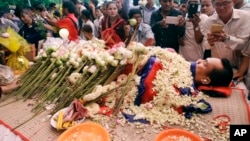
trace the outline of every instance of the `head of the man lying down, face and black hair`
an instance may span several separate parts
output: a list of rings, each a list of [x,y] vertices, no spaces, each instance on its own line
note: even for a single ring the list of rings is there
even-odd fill
[[[228,59],[207,58],[196,62],[196,85],[229,86],[233,78],[233,70]]]

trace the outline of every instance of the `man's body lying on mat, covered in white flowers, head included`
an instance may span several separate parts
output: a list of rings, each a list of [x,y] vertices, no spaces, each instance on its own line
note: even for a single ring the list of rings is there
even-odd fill
[[[49,38],[37,62],[21,76],[23,85],[15,94],[37,98],[34,110],[48,104],[54,104],[54,111],[69,106],[65,122],[115,117],[119,123],[185,126],[195,121],[187,119],[199,119],[199,113],[212,111],[207,95],[197,88],[228,86],[232,70],[227,68],[227,60],[190,63],[175,52],[141,43],[105,49],[102,40],[65,44]],[[29,77],[36,73],[40,78]],[[225,83],[214,83],[221,73]]]

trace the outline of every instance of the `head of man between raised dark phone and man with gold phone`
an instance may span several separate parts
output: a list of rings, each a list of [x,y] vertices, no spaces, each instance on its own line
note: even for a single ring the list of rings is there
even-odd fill
[[[212,0],[201,1],[201,13],[211,16],[214,14],[214,5]]]

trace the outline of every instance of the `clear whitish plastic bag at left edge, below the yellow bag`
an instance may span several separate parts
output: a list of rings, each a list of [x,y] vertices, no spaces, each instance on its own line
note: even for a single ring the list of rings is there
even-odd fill
[[[8,66],[0,65],[0,85],[8,85],[13,82],[15,75]]]

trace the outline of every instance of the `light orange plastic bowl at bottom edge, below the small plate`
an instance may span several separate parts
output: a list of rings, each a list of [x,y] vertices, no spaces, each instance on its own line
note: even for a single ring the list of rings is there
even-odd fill
[[[63,132],[57,141],[110,141],[108,131],[100,124],[85,122]]]

